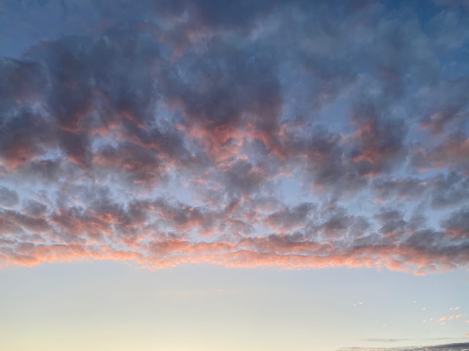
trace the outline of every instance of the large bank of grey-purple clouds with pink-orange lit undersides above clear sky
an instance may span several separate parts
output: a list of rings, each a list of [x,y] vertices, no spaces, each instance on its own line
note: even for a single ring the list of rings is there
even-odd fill
[[[93,6],[0,59],[1,266],[469,267],[463,7]]]

